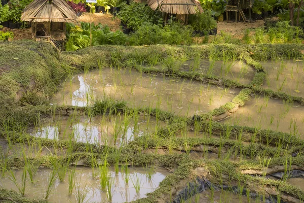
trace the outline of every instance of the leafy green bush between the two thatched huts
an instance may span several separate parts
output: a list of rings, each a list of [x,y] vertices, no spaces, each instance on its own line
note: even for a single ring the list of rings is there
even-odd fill
[[[118,12],[117,17],[128,28],[136,31],[143,23],[162,25],[163,19],[160,12],[153,11],[150,7],[141,3],[124,5]]]

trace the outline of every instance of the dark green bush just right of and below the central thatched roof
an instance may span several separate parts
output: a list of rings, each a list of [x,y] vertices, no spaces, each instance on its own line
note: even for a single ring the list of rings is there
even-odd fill
[[[189,24],[197,31],[210,31],[217,27],[216,21],[211,16],[209,10],[204,13],[197,13],[196,15],[189,15]]]

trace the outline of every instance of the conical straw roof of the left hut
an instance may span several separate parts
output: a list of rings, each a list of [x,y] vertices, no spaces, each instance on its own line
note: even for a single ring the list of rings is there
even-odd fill
[[[21,16],[21,20],[29,22],[77,22],[77,19],[65,0],[34,0]]]

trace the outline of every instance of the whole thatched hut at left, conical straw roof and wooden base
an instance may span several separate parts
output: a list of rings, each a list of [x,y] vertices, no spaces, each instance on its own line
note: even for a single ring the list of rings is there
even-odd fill
[[[65,0],[34,0],[23,11],[21,20],[31,22],[32,38],[64,41],[65,23],[78,22]]]

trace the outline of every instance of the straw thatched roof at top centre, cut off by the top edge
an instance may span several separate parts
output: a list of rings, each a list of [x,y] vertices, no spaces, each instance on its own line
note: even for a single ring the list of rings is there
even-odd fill
[[[196,14],[196,8],[203,12],[198,0],[148,0],[147,3],[153,10],[170,14]]]

